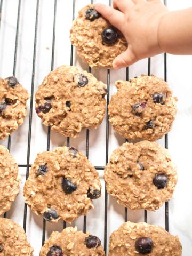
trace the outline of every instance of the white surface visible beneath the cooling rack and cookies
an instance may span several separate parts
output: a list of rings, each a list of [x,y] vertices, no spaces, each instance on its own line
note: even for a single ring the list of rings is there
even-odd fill
[[[43,78],[51,69],[51,53],[52,53],[52,29],[53,29],[53,0],[39,1],[39,23],[37,34],[37,54],[35,66],[35,91],[37,86],[41,84]],[[76,15],[81,7],[90,3],[88,0],[76,0]],[[108,4],[108,0],[95,1]],[[190,0],[168,0],[170,10],[179,10],[191,6]],[[66,64],[70,64],[70,41],[69,29],[72,20],[72,0],[58,0],[57,21],[56,21],[56,37],[55,37],[55,60],[54,68]],[[4,0],[2,10],[2,22],[0,29],[0,77],[12,75],[14,44],[15,44],[15,26],[17,23],[18,0]],[[30,92],[31,73],[33,65],[33,47],[34,47],[34,30],[35,30],[35,0],[21,1],[21,16],[19,27],[18,41],[18,58],[16,76],[20,83]],[[179,22],[179,21],[178,21]],[[154,57],[151,60],[151,73],[164,78],[164,62],[163,55]],[[168,81],[170,87],[174,91],[174,95],[179,98],[178,115],[174,122],[173,129],[169,134],[169,150],[172,158],[178,166],[179,181],[172,200],[169,203],[169,228],[174,235],[179,235],[183,245],[183,256],[191,256],[192,254],[192,198],[191,198],[191,126],[192,126],[192,82],[191,82],[191,62],[192,57],[177,57],[169,55],[168,57]],[[82,69],[88,69],[74,52],[74,65]],[[107,82],[107,71],[105,69],[92,70],[93,74]],[[147,60],[142,60],[136,65],[130,67],[130,78],[140,74],[147,74]],[[110,78],[110,95],[116,91],[114,82],[117,79],[125,79],[125,69],[120,71],[111,70]],[[17,159],[18,163],[26,163],[27,161],[27,140],[29,126],[29,105],[28,116],[24,124],[12,135],[11,153]],[[111,151],[124,142],[109,127],[109,156]],[[76,139],[70,140],[70,145],[78,150],[85,152],[86,132],[82,131],[81,135]],[[105,165],[105,139],[106,139],[106,122],[105,120],[97,130],[90,131],[90,161],[95,166]],[[47,128],[42,126],[41,119],[37,117],[35,109],[33,111],[32,137],[30,163],[33,163],[39,151],[46,150]],[[7,146],[7,140],[1,141]],[[159,141],[164,145],[164,138]],[[55,146],[66,145],[66,139],[59,134],[51,132],[51,150]],[[104,183],[103,171],[99,171],[102,180],[102,197],[94,201],[95,208],[87,215],[87,231],[100,237],[103,244],[104,229]],[[22,176],[22,185],[20,194],[7,213],[7,217],[23,225],[23,209],[24,201],[22,197],[22,187],[25,182],[26,168],[20,168]],[[148,213],[148,223],[165,226],[164,206],[157,212]],[[28,209],[27,212],[27,230],[29,242],[34,247],[34,255],[38,255],[42,243],[42,225],[43,219],[37,217]],[[133,222],[143,221],[144,212],[128,211],[128,219]],[[113,230],[116,230],[124,221],[124,207],[116,203],[114,199],[108,197],[108,237]],[[83,229],[83,217],[72,223],[77,225],[78,229]],[[51,231],[62,230],[62,221],[57,225],[47,223],[46,238],[50,236]]]

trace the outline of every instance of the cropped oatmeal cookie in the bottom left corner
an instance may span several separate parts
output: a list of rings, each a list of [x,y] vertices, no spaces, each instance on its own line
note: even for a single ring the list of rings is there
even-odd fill
[[[23,228],[12,220],[0,218],[0,255],[32,256],[33,251]]]

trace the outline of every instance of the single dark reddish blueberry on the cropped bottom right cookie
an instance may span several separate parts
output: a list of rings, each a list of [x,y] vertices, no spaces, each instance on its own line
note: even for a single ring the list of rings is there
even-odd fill
[[[139,253],[149,253],[153,249],[153,241],[149,237],[139,237],[135,242],[135,249]]]

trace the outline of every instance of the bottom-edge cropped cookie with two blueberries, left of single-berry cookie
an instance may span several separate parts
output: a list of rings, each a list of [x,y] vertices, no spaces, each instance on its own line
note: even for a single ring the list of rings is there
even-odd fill
[[[45,241],[39,256],[105,256],[101,241],[90,233],[68,227],[61,233],[53,232]]]

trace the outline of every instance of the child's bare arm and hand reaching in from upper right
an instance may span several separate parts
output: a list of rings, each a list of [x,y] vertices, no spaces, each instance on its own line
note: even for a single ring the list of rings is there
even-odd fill
[[[128,42],[115,58],[114,68],[167,52],[192,54],[192,8],[169,12],[159,0],[113,0],[114,8],[96,4],[95,9],[118,28]]]

